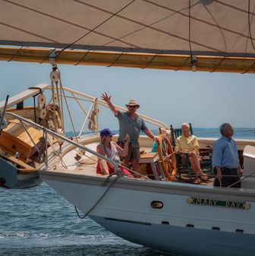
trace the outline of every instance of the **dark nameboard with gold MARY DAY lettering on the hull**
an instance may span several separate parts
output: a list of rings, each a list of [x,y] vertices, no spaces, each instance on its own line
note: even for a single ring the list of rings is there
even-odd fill
[[[207,198],[187,198],[188,204],[196,204],[196,205],[205,205],[205,206],[219,206],[219,207],[230,207],[241,210],[250,209],[250,203],[247,202],[239,202],[239,201],[221,201],[216,199],[207,199]]]

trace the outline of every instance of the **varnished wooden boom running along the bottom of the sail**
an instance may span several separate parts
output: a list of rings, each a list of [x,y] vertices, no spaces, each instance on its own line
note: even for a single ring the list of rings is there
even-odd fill
[[[65,50],[55,58],[57,64],[100,65],[126,68],[156,68],[192,71],[189,55],[134,52]],[[197,55],[196,71],[255,73],[255,58]],[[49,49],[0,47],[1,61],[49,63]]]

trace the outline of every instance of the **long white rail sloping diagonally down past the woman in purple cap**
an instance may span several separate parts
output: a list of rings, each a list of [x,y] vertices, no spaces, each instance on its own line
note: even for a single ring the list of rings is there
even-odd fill
[[[2,113],[2,112],[0,111],[0,113]],[[33,126],[34,128],[41,129],[42,131],[46,132],[47,134],[49,133],[49,134],[51,134],[52,136],[58,137],[59,139],[61,139],[61,140],[63,140],[63,141],[66,141],[66,142],[68,142],[69,144],[72,144],[72,145],[74,145],[74,146],[76,146],[76,147],[79,147],[79,148],[82,149],[82,150],[86,150],[87,152],[92,153],[93,155],[98,156],[99,158],[102,158],[103,160],[105,160],[105,161],[111,163],[112,166],[114,166],[115,172],[121,173],[121,170],[118,168],[118,165],[117,165],[113,160],[109,159],[108,157],[102,156],[101,154],[97,153],[97,152],[94,151],[94,150],[90,150],[90,148],[88,148],[88,147],[82,146],[82,145],[78,144],[77,142],[71,141],[70,139],[68,139],[68,137],[61,136],[60,134],[57,134],[55,131],[51,131],[51,130],[49,130],[48,128],[45,128],[45,127],[43,127],[43,126],[41,126],[41,125],[38,125],[38,124],[36,124],[36,123],[34,123],[34,122],[31,122],[31,121],[28,120],[28,119],[24,119],[24,118],[23,118],[22,116],[20,116],[20,115],[16,115],[16,114],[11,113],[11,112],[5,112],[5,115],[12,116],[12,117],[14,117],[15,119],[21,120],[21,121],[27,123],[28,125]]]

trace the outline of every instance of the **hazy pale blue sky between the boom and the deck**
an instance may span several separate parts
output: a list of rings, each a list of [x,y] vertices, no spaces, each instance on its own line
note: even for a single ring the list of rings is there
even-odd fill
[[[120,106],[136,99],[140,113],[167,125],[178,127],[182,122],[191,122],[194,127],[215,128],[230,122],[235,127],[255,127],[254,74],[74,65],[59,68],[63,86],[91,96],[107,92]],[[36,84],[49,84],[50,71],[49,64],[0,62],[0,100]],[[112,114],[106,115],[102,124],[118,128]],[[74,114],[74,119],[77,123],[80,116]]]

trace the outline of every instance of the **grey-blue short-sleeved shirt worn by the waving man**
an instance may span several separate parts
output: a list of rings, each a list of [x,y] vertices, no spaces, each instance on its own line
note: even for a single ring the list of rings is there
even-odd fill
[[[121,112],[118,110],[118,115],[116,116],[119,122],[119,137],[118,140],[124,142],[124,137],[126,134],[130,137],[130,144],[132,147],[139,148],[139,135],[140,131],[146,130],[146,125],[143,119],[139,115],[136,115],[134,119],[128,112]]]

